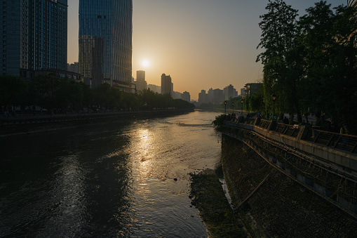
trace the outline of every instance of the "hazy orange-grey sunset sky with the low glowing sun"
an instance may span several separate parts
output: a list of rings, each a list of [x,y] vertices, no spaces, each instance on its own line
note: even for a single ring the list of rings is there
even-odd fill
[[[285,0],[304,15],[318,0]],[[347,0],[327,0],[346,5]],[[133,77],[148,84],[170,74],[174,91],[196,100],[202,89],[237,89],[262,79],[259,16],[268,0],[133,0]],[[78,61],[79,0],[68,1],[68,62]],[[143,61],[148,65],[144,66]]]

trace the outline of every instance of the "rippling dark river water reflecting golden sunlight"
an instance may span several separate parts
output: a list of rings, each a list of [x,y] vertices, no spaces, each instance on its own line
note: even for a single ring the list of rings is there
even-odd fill
[[[220,162],[217,114],[0,138],[0,237],[207,237],[189,173]]]

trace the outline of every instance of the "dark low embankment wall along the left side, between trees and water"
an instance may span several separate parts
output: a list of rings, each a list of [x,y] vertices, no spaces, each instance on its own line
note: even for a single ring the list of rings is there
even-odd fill
[[[73,128],[76,126],[107,123],[111,121],[170,117],[189,112],[194,112],[194,109],[3,117],[0,119],[0,138],[13,135],[57,131],[63,128]]]

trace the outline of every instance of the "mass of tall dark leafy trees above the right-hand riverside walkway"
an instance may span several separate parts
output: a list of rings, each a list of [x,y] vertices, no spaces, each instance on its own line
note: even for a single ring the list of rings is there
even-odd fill
[[[245,108],[297,114],[299,122],[310,113],[325,115],[356,131],[356,8],[319,1],[299,18],[283,0],[269,0],[266,9],[257,46],[262,88],[245,98]]]

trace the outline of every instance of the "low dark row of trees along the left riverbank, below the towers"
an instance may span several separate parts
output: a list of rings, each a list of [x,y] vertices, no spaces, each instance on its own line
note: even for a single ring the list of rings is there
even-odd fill
[[[192,108],[193,104],[173,99],[168,94],[150,90],[128,93],[109,84],[90,88],[74,79],[40,75],[23,80],[11,75],[0,76],[0,106],[2,110],[30,105],[50,112],[79,112],[91,110],[161,110],[168,108]]]

